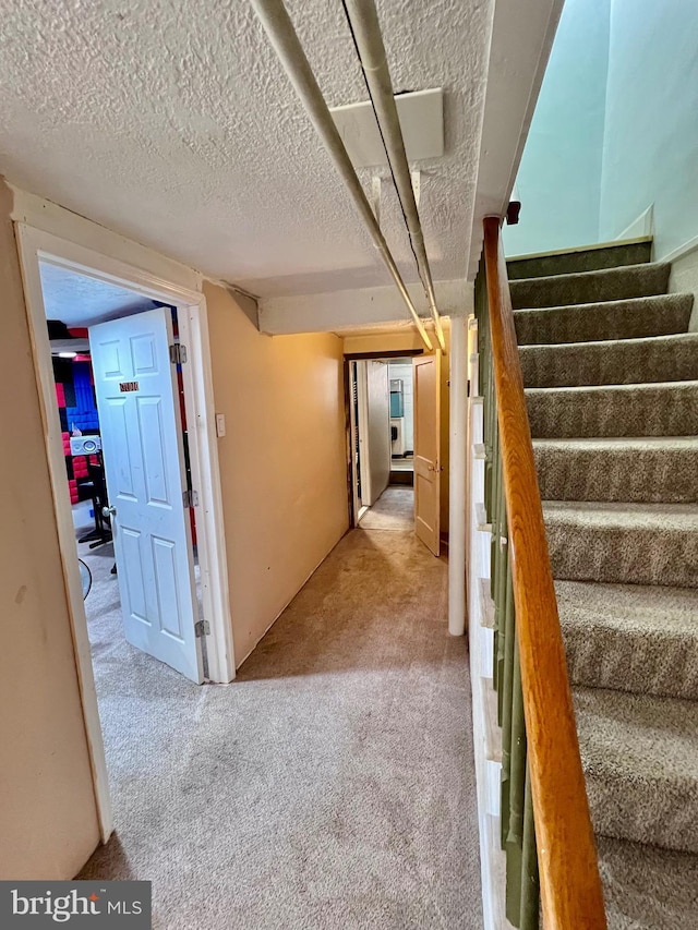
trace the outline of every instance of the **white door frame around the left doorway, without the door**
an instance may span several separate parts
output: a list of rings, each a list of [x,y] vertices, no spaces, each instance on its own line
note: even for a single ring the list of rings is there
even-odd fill
[[[188,362],[182,365],[182,377],[192,483],[198,492],[196,535],[202,603],[204,617],[209,619],[210,625],[210,635],[206,641],[208,680],[225,684],[234,678],[236,663],[206,299],[201,291],[182,287],[25,222],[15,222],[15,235],[95,798],[101,838],[106,843],[113,831],[113,813],[75,551],[75,531],[65,480],[65,459],[56,403],[39,262],[49,262],[107,283],[118,285],[134,290],[142,297],[177,307],[180,341],[188,350]]]

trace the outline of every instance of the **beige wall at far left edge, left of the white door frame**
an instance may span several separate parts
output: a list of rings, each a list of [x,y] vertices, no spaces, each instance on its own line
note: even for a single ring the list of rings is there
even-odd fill
[[[0,878],[69,879],[99,832],[11,209],[0,180]]]

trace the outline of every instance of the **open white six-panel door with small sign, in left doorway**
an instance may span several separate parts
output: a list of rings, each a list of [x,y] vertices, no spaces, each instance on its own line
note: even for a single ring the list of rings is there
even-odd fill
[[[89,329],[127,640],[201,684],[169,307]]]

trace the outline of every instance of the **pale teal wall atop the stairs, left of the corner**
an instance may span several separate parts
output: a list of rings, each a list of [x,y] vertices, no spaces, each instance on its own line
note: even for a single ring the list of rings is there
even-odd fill
[[[516,179],[507,255],[598,241],[611,0],[567,0]]]

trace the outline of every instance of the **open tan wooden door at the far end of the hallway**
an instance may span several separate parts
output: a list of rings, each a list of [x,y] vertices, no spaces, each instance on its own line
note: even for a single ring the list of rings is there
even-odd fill
[[[412,360],[414,376],[414,532],[441,552],[441,354]]]

